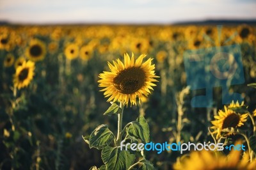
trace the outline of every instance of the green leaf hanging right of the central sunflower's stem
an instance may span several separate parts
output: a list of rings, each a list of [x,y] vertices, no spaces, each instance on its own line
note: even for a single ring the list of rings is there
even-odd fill
[[[144,143],[149,142],[148,123],[143,116],[140,116],[136,121],[132,121],[127,132],[129,135],[141,139]]]

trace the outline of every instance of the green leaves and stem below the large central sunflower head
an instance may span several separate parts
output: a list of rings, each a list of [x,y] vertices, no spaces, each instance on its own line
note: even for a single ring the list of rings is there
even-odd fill
[[[120,109],[120,111],[118,111]],[[113,111],[115,110],[115,111]],[[123,108],[120,108],[117,104],[113,103],[109,109],[108,113],[111,114],[118,112],[118,114],[123,114]],[[110,116],[111,114],[105,114]],[[121,116],[122,117],[122,116]],[[120,123],[120,121],[118,121]],[[147,120],[143,116],[139,116],[136,121],[127,123],[125,126],[126,129],[122,132],[118,132],[121,135],[124,135],[124,132],[127,133],[124,140],[130,140],[131,143],[138,143],[138,140],[141,139],[144,143],[149,142],[149,127]],[[109,130],[108,125],[99,125],[99,127],[93,130],[92,134],[87,136],[82,136],[84,141],[89,144],[90,148],[97,148],[98,150],[102,149],[101,157],[104,163],[99,169],[129,169],[133,166],[140,166],[140,169],[154,169],[154,166],[148,160],[140,160],[134,164],[136,160],[136,151],[132,151],[131,148],[128,150],[121,150],[120,143],[116,141],[115,135],[111,130]],[[110,146],[112,141],[115,141],[113,146]],[[144,157],[144,156],[143,156]],[[97,170],[96,166],[91,167],[92,170]]]

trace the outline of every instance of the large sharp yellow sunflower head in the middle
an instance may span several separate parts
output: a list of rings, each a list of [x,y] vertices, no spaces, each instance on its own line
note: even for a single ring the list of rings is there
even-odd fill
[[[113,61],[113,65],[108,63],[111,72],[100,73],[99,87],[104,89],[104,95],[108,98],[108,102],[122,102],[128,105],[136,105],[136,98],[139,103],[145,102],[145,98],[150,94],[149,89],[156,86],[152,82],[157,82],[158,76],[155,75],[155,65],[151,65],[152,58],[143,63],[145,54],[142,54],[136,61],[134,55],[130,58],[128,54],[124,54],[124,63],[120,59]]]

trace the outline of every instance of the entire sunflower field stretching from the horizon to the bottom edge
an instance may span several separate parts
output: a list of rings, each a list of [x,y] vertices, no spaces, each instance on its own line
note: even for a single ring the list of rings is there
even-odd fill
[[[0,169],[255,169],[255,35],[248,24],[1,25]],[[212,106],[193,107],[206,92],[189,86],[197,68],[184,55],[232,45],[244,81],[228,92],[243,101],[223,104],[214,86]],[[123,141],[244,150],[159,153]]]

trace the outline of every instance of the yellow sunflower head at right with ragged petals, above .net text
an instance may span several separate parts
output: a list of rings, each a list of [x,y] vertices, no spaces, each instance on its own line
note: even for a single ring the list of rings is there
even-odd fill
[[[236,104],[232,102],[230,105],[228,105],[228,107],[224,106],[224,111],[219,110],[218,116],[214,116],[215,120],[211,121],[213,125],[211,128],[214,129],[213,134],[217,134],[216,139],[218,139],[221,136],[221,130],[225,128],[237,128],[244,125],[244,122],[246,121],[248,113],[239,114],[235,111],[232,111],[231,109],[234,107],[241,107],[241,106],[243,106],[243,102],[241,105],[239,105],[238,102]],[[230,133],[228,133],[227,135],[230,135]]]

